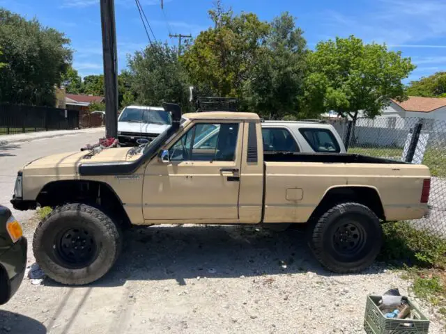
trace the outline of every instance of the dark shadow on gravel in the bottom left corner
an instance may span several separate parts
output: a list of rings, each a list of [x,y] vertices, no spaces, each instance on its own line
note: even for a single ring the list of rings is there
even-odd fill
[[[0,333],[47,333],[47,328],[24,315],[0,310]]]

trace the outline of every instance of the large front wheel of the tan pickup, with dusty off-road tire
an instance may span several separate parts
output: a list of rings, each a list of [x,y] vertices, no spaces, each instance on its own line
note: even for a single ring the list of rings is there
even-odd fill
[[[40,222],[33,253],[56,282],[84,285],[112,268],[121,250],[121,234],[100,209],[85,204],[57,207]]]

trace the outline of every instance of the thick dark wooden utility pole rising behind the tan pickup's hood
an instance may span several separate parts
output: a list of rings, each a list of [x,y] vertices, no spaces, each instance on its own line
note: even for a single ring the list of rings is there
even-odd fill
[[[104,59],[105,134],[118,137],[118,53],[114,0],[100,0],[102,24],[102,58]]]

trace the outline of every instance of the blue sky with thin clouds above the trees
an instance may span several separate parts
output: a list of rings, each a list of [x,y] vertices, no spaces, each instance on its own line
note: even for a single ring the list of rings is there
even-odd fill
[[[212,0],[140,0],[157,40],[171,33],[197,35],[210,26]],[[310,48],[337,35],[385,42],[410,56],[417,69],[408,80],[446,70],[445,0],[223,0],[236,13],[249,11],[270,20],[284,11],[297,17]],[[134,0],[115,0],[118,65],[148,40]],[[102,72],[99,0],[0,0],[0,6],[66,33],[75,49],[74,67],[82,76]],[[168,24],[167,24],[168,22]]]

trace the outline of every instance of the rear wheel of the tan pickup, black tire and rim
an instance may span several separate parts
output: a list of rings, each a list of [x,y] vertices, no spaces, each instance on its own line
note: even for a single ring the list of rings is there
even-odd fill
[[[309,237],[316,259],[336,273],[366,269],[383,244],[383,231],[376,214],[354,202],[335,205],[325,212]]]

